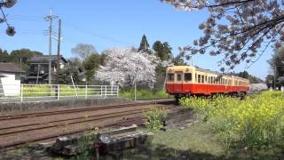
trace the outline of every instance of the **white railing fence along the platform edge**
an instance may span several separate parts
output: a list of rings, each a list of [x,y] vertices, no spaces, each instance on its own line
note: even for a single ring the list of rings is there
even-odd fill
[[[0,84],[0,102],[107,98],[118,92],[117,85]]]

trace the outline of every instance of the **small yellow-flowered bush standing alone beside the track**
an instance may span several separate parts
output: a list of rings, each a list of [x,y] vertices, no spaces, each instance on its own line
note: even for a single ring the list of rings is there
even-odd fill
[[[160,130],[166,120],[168,110],[166,108],[148,108],[143,112],[146,128],[151,131]]]

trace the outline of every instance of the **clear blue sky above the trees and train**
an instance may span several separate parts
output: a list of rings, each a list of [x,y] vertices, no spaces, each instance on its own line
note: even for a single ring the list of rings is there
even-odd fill
[[[43,30],[49,23],[43,17],[50,9],[62,20],[62,54],[73,57],[71,48],[78,43],[93,44],[98,52],[111,47],[138,47],[141,36],[146,34],[150,45],[156,40],[167,41],[177,55],[177,47],[193,44],[193,39],[201,36],[199,24],[206,20],[207,12],[177,11],[169,4],[159,0],[18,0],[11,9],[5,9],[15,26],[17,34],[6,36],[6,26],[0,26],[0,47],[11,52],[28,48],[48,53],[48,36]],[[57,29],[56,21],[53,26]],[[52,51],[57,51],[53,41]],[[269,49],[248,72],[264,77],[269,66],[266,62],[271,56]],[[193,65],[218,70],[217,60],[208,54],[193,57]],[[240,65],[235,71],[244,70]]]

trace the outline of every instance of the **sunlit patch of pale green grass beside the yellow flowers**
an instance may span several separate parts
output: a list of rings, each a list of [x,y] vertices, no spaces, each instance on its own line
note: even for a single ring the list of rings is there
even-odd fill
[[[219,137],[213,134],[211,128],[205,124],[195,124],[185,130],[173,129],[169,132],[157,132],[154,134],[153,145],[165,146],[177,151],[190,150],[194,153],[212,156],[225,155],[225,148]]]

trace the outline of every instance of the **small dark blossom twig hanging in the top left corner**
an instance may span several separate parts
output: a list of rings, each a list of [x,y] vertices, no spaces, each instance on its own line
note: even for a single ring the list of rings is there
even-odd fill
[[[2,17],[0,17],[0,23],[6,23],[6,34],[8,36],[14,36],[16,32],[15,28],[8,23],[7,15],[4,13],[4,8],[11,8],[16,3],[17,0],[0,0],[0,10],[2,14]]]

